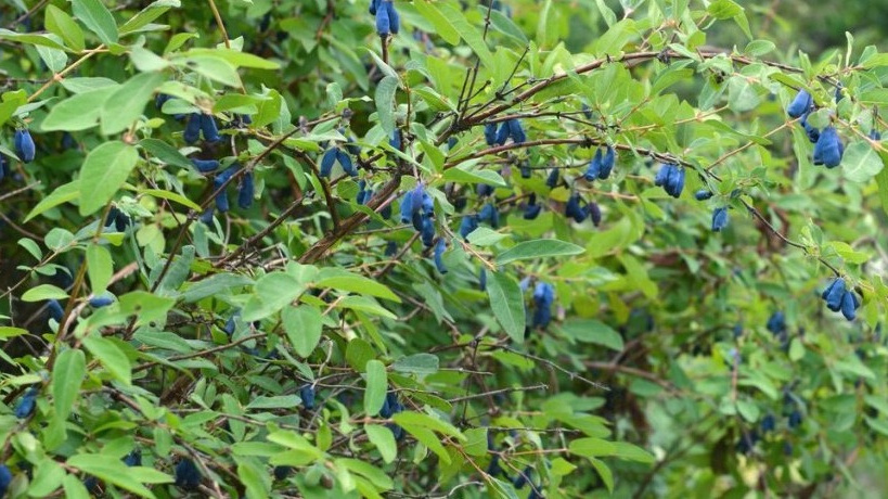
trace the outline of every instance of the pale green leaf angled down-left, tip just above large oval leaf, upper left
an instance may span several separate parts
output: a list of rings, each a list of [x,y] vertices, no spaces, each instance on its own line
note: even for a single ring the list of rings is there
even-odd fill
[[[121,85],[102,106],[102,133],[110,136],[128,129],[142,116],[154,89],[166,79],[163,73],[140,73]]]

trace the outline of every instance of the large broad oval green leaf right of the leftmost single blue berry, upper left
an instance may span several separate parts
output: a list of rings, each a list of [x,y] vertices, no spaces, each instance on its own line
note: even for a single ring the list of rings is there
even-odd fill
[[[107,204],[138,159],[136,148],[116,140],[90,151],[80,170],[80,215],[90,215]]]

